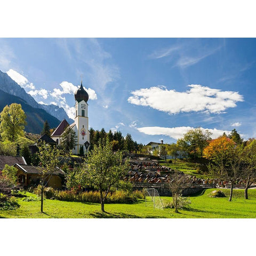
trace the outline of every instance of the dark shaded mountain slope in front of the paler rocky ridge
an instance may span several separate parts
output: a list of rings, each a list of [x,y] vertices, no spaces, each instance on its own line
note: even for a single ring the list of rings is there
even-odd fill
[[[22,109],[25,111],[27,116],[27,125],[25,126],[26,132],[41,133],[45,120],[48,121],[51,128],[57,127],[60,124],[59,119],[50,115],[44,109],[31,107],[20,97],[0,90],[0,111],[2,111],[6,105],[11,105],[11,103],[21,104]]]

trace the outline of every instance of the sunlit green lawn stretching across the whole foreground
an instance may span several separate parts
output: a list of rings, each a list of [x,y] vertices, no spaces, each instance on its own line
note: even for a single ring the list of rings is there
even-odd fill
[[[108,213],[102,214],[100,204],[62,202],[46,199],[44,213],[40,213],[40,202],[23,202],[17,210],[0,211],[0,218],[255,218],[256,189],[249,189],[249,200],[243,198],[243,189],[235,189],[233,201],[228,201],[229,189],[221,189],[227,197],[209,197],[214,189],[206,189],[200,196],[190,197],[190,208],[174,213],[173,209],[153,209],[140,200],[135,204],[106,204]],[[35,196],[27,193],[27,196]],[[171,201],[171,197],[162,197]]]

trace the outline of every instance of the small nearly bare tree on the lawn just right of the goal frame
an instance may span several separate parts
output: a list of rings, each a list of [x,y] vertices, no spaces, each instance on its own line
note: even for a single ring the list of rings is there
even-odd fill
[[[178,209],[182,206],[182,191],[185,188],[188,188],[190,186],[190,180],[189,178],[183,173],[175,171],[171,175],[171,180],[169,183],[169,188],[172,192],[172,201],[174,206],[174,211],[179,212]]]

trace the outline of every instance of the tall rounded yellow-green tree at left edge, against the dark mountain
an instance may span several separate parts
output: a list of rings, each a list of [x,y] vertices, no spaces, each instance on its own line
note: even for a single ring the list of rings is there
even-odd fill
[[[21,105],[12,103],[10,106],[5,106],[0,113],[0,133],[4,140],[14,142],[19,135],[24,136],[23,130],[27,122],[26,115],[22,110]]]

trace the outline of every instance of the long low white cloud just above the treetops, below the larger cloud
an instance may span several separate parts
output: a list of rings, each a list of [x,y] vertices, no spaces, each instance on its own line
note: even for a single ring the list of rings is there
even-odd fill
[[[170,138],[173,139],[179,139],[182,138],[184,133],[187,131],[194,129],[193,127],[190,126],[181,126],[181,127],[159,127],[159,126],[152,126],[152,127],[140,127],[137,128],[139,132],[145,133],[147,135],[166,135],[169,136]],[[229,134],[230,131],[223,131],[223,130],[217,130],[217,129],[204,129],[202,130],[208,130],[212,132],[211,138],[215,139],[218,138],[225,132],[226,134]]]

